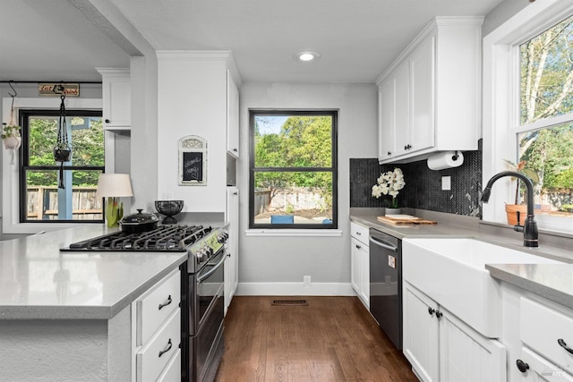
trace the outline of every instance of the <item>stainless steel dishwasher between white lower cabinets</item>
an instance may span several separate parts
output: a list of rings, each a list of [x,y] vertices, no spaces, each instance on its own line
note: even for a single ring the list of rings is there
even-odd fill
[[[370,312],[402,349],[402,241],[370,229]]]

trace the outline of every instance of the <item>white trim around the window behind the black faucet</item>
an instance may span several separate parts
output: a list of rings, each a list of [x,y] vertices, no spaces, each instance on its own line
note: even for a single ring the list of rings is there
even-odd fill
[[[543,0],[528,4],[522,11],[483,38],[483,186],[494,174],[508,170],[503,159],[515,160],[518,125],[519,43],[535,37],[573,13],[573,0]],[[543,123],[545,124],[545,123]],[[510,179],[495,183],[489,203],[483,203],[483,221],[505,223],[503,205],[512,200],[514,188]],[[553,218],[540,229],[573,232],[573,222]],[[552,220],[552,219],[550,219]]]

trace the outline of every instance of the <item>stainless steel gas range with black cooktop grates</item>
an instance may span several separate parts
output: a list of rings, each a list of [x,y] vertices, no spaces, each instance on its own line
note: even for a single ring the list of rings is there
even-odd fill
[[[61,250],[181,251],[181,352],[183,381],[212,381],[224,350],[223,264],[228,225],[158,225],[145,232],[115,232],[74,242]]]

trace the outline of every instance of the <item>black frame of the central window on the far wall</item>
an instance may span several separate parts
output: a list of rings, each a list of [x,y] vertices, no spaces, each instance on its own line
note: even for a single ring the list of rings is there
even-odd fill
[[[329,115],[332,117],[330,167],[259,167],[254,166],[254,119],[257,115]],[[330,172],[332,173],[331,224],[256,224],[254,222],[254,181],[256,172]],[[338,230],[338,109],[249,109],[249,229]]]

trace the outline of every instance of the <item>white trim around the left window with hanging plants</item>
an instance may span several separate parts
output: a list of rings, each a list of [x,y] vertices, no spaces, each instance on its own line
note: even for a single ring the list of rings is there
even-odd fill
[[[70,109],[101,110],[102,100],[99,98],[66,98],[66,107]],[[2,115],[10,117],[12,98],[2,99]],[[14,98],[14,111],[19,109],[48,109],[57,108],[56,98]],[[106,133],[106,139],[107,139]],[[106,144],[108,144],[106,140]],[[113,152],[113,150],[112,150]],[[106,157],[107,159],[107,157]],[[63,228],[78,226],[77,223],[20,223],[20,192],[18,190],[19,157],[14,157],[14,165],[10,165],[8,150],[2,149],[2,233],[38,233],[40,231],[56,231]],[[107,163],[106,163],[107,168]]]

